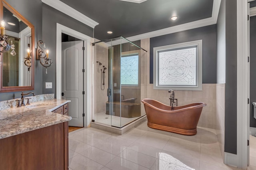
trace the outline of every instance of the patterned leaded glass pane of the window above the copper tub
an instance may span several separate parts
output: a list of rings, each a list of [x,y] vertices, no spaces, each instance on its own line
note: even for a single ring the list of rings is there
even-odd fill
[[[197,85],[197,47],[158,51],[158,85]]]

